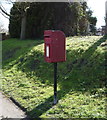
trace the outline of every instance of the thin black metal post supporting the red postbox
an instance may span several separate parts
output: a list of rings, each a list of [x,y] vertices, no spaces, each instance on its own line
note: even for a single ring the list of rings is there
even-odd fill
[[[54,63],[54,104],[57,103],[57,63]]]

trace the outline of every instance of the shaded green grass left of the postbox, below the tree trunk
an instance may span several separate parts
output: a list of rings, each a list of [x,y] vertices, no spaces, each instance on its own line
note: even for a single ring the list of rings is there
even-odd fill
[[[10,44],[12,42],[12,44]],[[43,40],[5,40],[3,41],[2,46],[2,67],[7,67],[8,69],[11,68],[13,65],[17,64],[17,59],[20,58],[20,56],[25,55],[27,52],[32,50],[34,46],[40,45],[43,43]],[[5,46],[5,44],[7,46]],[[5,47],[8,47],[10,49],[5,51]],[[23,54],[23,55],[22,55]],[[22,59],[18,59],[22,61]],[[12,63],[13,62],[13,63]],[[10,64],[12,63],[12,64]],[[10,64],[10,65],[9,65]]]

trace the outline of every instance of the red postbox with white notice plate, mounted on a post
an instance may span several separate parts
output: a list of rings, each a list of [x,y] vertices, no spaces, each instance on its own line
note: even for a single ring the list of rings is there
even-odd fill
[[[66,61],[65,34],[59,30],[45,30],[45,61],[49,63]]]

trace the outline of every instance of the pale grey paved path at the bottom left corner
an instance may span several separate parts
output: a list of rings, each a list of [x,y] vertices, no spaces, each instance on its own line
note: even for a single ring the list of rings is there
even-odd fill
[[[25,118],[25,113],[0,92],[0,120],[2,118]]]

